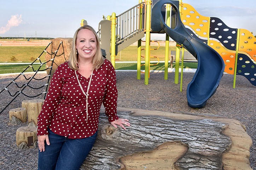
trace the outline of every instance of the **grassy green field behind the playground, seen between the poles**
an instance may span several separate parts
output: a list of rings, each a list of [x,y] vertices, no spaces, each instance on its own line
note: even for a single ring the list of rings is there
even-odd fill
[[[145,48],[142,46],[142,48]],[[156,46],[151,46],[151,49],[157,48]],[[37,57],[39,57],[42,51],[45,49],[44,46],[0,46],[0,74],[5,73],[21,73],[23,72],[29,64],[15,64],[9,65],[7,63],[32,63]],[[170,51],[175,50],[175,46],[169,48]],[[145,56],[145,50],[141,52],[142,56]],[[160,61],[164,61],[165,47],[160,47],[158,50],[151,50],[151,56],[157,56]],[[45,53],[40,57],[42,62],[45,61]],[[137,46],[128,46],[123,49],[121,52],[118,52],[116,56],[116,61],[137,61]],[[145,61],[144,58],[141,58],[141,61]],[[151,58],[150,61],[157,61],[156,58]],[[170,57],[169,57],[170,61]],[[143,63],[142,63],[143,64]],[[155,63],[154,63],[155,64]],[[180,64],[181,65],[181,64]],[[38,69],[39,64],[33,64],[34,70]],[[173,63],[175,67],[175,63]],[[180,66],[181,67],[181,66]],[[170,68],[170,63],[169,63]],[[197,63],[184,63],[184,68],[197,68]],[[42,66],[40,70],[45,69],[45,66]],[[116,63],[117,70],[137,70],[137,63]],[[145,67],[142,65],[141,70],[144,70]],[[164,63],[159,63],[158,65],[151,66],[150,70],[164,70]],[[30,67],[26,72],[33,71]]]

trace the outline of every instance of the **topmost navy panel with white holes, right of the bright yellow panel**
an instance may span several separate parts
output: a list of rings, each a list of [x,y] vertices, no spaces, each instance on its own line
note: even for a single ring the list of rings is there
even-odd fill
[[[236,49],[237,29],[228,27],[221,19],[210,18],[210,38],[218,39],[229,50]]]

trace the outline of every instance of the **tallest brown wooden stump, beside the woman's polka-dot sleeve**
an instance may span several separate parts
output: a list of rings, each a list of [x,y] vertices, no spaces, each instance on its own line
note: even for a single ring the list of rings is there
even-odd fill
[[[27,109],[28,126],[37,126],[37,117],[42,109],[43,99],[23,100],[22,107]]]

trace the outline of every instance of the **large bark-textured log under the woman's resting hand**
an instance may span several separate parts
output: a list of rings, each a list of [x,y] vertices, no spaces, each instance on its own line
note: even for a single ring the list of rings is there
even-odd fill
[[[251,169],[252,141],[237,120],[126,108],[118,116],[132,126],[115,129],[101,114],[82,169]]]

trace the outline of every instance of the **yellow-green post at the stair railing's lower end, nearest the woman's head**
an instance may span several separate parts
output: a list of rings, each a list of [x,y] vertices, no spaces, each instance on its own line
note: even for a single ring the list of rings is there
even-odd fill
[[[116,65],[116,13],[111,15],[111,63]]]

